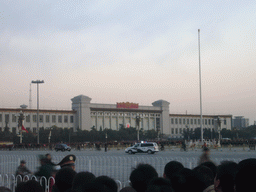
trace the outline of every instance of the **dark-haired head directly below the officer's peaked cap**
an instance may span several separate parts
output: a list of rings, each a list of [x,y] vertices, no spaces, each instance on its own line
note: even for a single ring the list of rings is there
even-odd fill
[[[55,186],[59,192],[64,192],[67,189],[72,188],[72,182],[76,175],[76,172],[70,167],[61,168],[55,176]]]

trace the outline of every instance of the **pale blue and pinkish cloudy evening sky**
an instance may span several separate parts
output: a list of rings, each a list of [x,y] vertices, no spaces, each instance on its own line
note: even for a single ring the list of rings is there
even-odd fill
[[[31,81],[44,80],[40,109],[71,109],[82,94],[200,114],[200,53],[203,115],[253,124],[255,10],[255,0],[1,0],[0,108],[30,95],[36,108]]]

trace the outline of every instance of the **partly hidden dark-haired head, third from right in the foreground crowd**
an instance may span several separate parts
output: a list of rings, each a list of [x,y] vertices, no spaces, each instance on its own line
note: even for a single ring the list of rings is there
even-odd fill
[[[204,183],[204,188],[207,188],[214,184],[214,175],[210,168],[199,165],[196,168],[194,168],[198,174],[201,175],[200,179],[202,179],[202,182]]]

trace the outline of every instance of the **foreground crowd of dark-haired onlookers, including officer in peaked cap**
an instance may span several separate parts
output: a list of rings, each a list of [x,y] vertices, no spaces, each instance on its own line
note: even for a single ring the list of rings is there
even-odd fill
[[[118,192],[118,185],[108,176],[96,177],[91,172],[76,172],[75,155],[64,157],[58,164],[51,161],[50,154],[40,158],[41,167],[36,176],[53,177],[50,192]],[[26,168],[26,162],[21,161],[16,175],[24,176],[31,173]],[[56,165],[59,170],[54,169]],[[150,165],[138,164],[130,173],[130,186],[120,189],[120,192],[244,192],[254,191],[256,180],[256,159],[249,158],[235,163],[223,161],[216,165],[209,158],[209,149],[203,148],[198,166],[193,169],[185,168],[181,162],[170,161],[159,175]],[[10,190],[1,187],[0,192]],[[19,182],[15,192],[44,192],[44,185],[35,180]]]

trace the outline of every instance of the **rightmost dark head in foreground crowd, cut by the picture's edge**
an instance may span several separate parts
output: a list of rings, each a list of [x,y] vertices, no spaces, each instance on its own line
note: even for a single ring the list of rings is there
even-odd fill
[[[256,159],[250,158],[238,163],[238,172],[235,178],[236,192],[252,191],[256,181]]]

